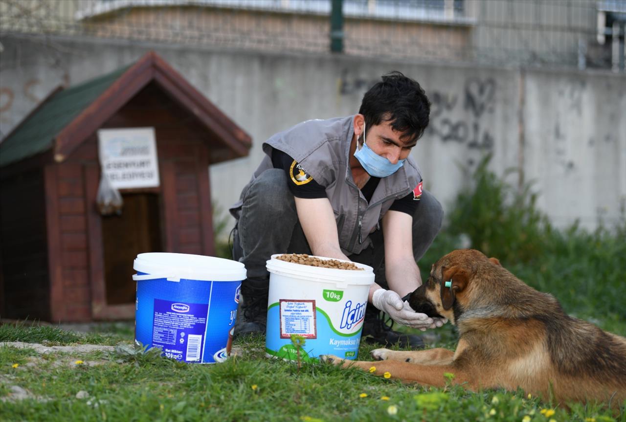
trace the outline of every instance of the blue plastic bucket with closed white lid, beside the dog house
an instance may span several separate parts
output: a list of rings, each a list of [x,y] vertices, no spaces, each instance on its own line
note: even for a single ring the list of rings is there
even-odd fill
[[[223,362],[230,353],[244,264],[154,252],[137,255],[135,344],[187,363]]]

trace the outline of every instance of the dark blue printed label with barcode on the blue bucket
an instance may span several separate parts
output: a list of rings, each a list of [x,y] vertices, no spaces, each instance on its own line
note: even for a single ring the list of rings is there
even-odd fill
[[[207,330],[208,304],[155,299],[152,346],[178,361],[202,358],[202,338]]]

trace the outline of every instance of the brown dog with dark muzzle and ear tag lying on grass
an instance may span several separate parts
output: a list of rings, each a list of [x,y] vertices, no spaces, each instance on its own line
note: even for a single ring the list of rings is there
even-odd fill
[[[449,286],[449,287],[446,287]],[[420,384],[453,383],[480,388],[522,388],[543,399],[601,401],[618,408],[626,400],[626,338],[567,316],[557,299],[527,286],[478,250],[455,250],[439,259],[409,304],[458,327],[456,351],[376,349],[384,362],[324,361],[369,369]]]

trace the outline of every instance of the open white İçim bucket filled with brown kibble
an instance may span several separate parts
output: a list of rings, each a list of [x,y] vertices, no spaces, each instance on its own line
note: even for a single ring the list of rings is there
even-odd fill
[[[300,359],[316,360],[321,354],[356,359],[367,306],[374,283],[372,267],[354,262],[363,270],[340,270],[267,261],[270,289],[267,305],[265,354],[297,358],[291,335],[304,337]],[[329,259],[318,257],[319,259]]]

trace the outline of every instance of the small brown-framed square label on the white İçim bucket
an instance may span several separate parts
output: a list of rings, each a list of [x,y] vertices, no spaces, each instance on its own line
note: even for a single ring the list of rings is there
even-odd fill
[[[280,338],[317,338],[315,301],[280,299]]]

